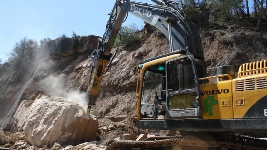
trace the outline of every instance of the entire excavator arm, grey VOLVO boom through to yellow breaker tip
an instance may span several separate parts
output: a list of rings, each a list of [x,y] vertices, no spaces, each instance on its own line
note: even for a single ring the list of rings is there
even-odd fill
[[[97,49],[92,53],[93,58],[90,81],[88,86],[88,105],[95,105],[103,73],[109,62],[111,49],[118,32],[130,13],[160,30],[170,43],[170,52],[180,50],[191,53],[195,58],[204,59],[201,40],[195,26],[185,17],[178,5],[172,1],[152,0],[158,5],[117,0],[106,25],[106,31],[99,38]],[[89,109],[90,110],[90,109]]]

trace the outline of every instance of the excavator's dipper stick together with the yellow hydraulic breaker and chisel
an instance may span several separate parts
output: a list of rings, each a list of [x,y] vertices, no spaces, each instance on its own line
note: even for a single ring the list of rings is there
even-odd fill
[[[124,5],[123,5],[124,3]],[[88,109],[90,112],[91,106],[96,105],[96,96],[99,92],[102,77],[106,68],[107,63],[112,57],[111,49],[114,45],[120,27],[123,23],[124,17],[126,16],[126,9],[128,5],[122,0],[117,0],[112,12],[110,13],[109,21],[106,25],[106,32],[102,38],[98,39],[97,49],[91,54],[92,68],[90,73],[89,86],[87,90],[88,94]],[[123,9],[122,9],[123,8]]]

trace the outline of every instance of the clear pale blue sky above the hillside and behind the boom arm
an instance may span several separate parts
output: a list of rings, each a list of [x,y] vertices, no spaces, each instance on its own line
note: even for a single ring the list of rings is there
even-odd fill
[[[148,0],[138,0],[150,2]],[[252,1],[252,0],[250,0]],[[62,34],[102,36],[115,0],[0,0],[0,58],[7,60],[15,42]],[[252,2],[250,2],[252,3]],[[123,25],[144,22],[132,15]]]

